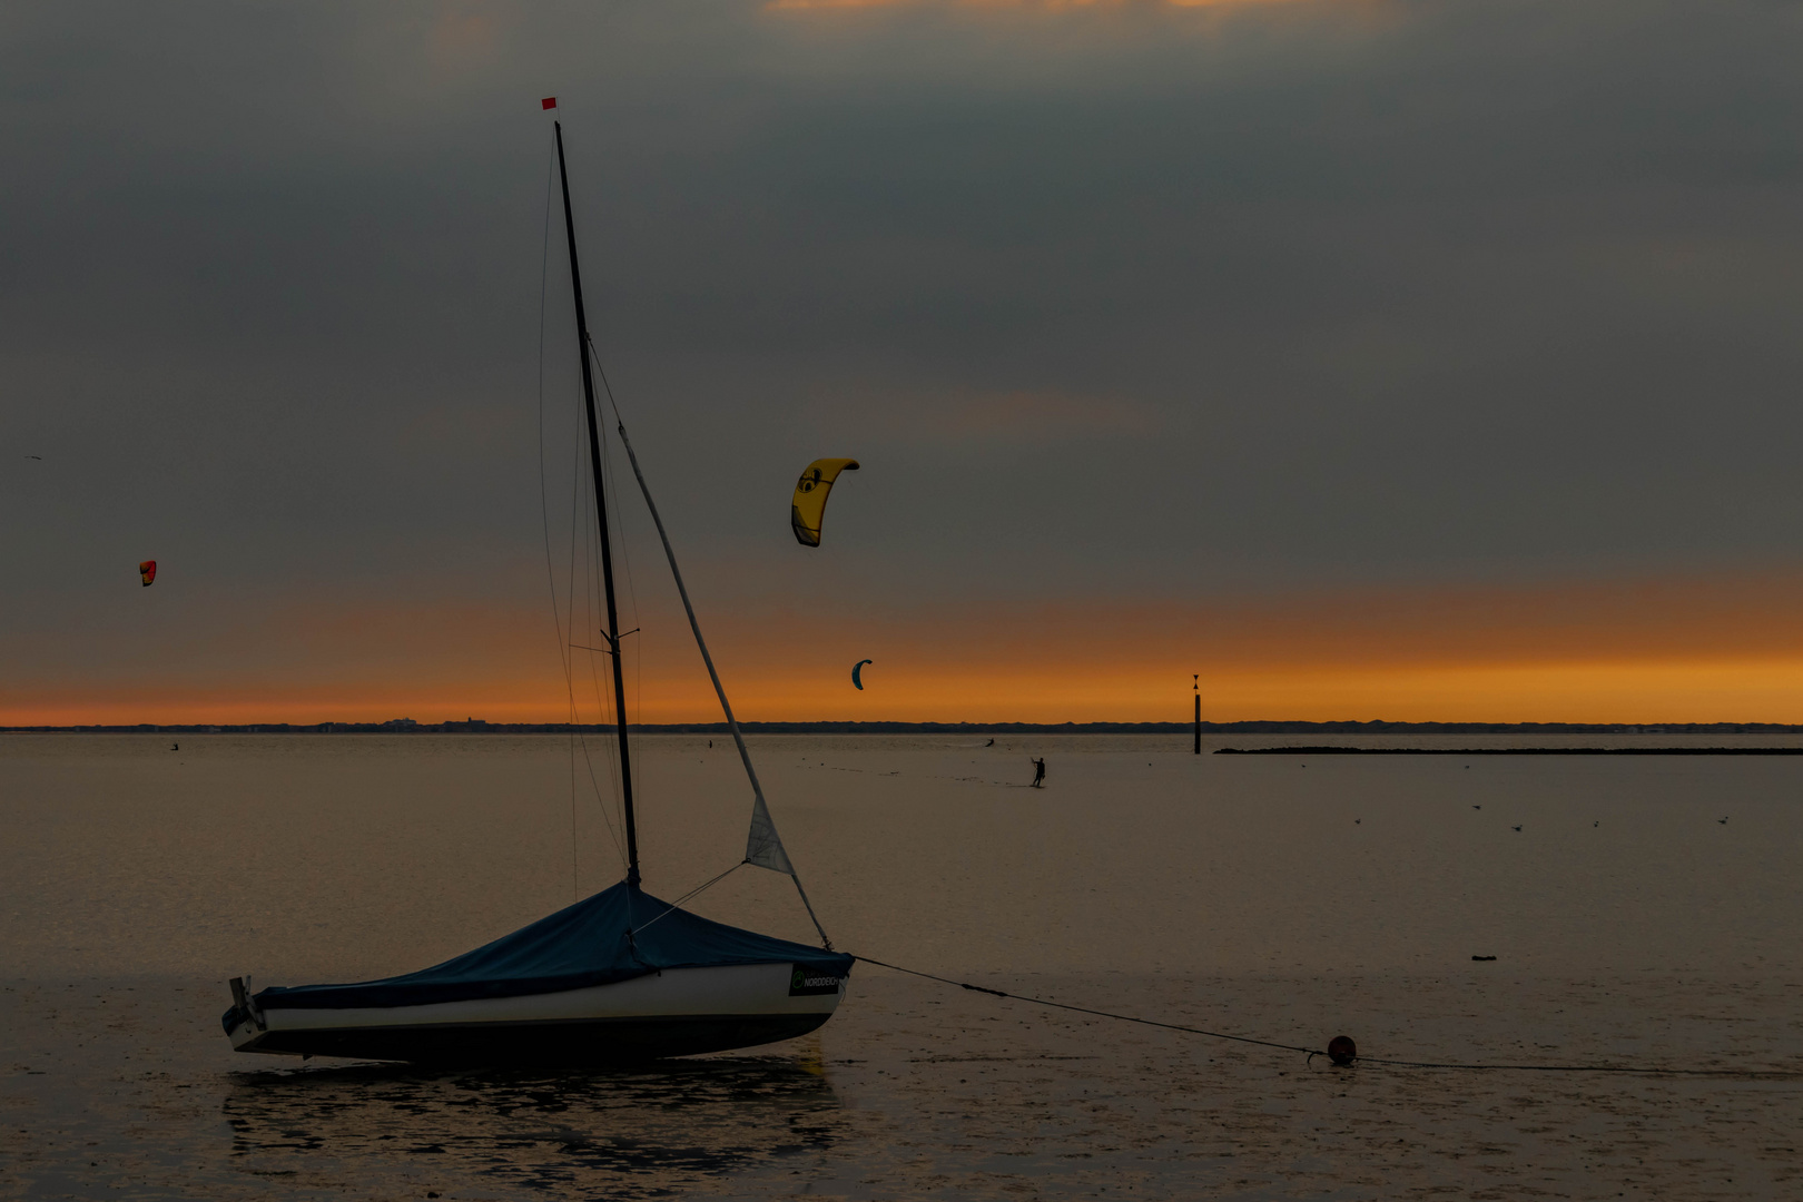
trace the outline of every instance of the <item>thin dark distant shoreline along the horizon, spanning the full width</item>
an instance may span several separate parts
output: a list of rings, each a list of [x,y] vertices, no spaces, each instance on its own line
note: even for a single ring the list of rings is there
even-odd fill
[[[725,735],[725,723],[644,723],[647,735]],[[739,723],[748,735],[1190,735],[1194,723]],[[0,733],[69,735],[564,735],[613,733],[570,723],[135,723],[123,726],[0,726]],[[1204,735],[1803,735],[1790,723],[1203,723]],[[1311,748],[1314,750],[1314,748]]]

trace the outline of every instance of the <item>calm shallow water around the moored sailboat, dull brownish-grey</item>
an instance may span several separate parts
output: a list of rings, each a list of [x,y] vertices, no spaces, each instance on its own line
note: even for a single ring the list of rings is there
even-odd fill
[[[557,737],[173,741],[0,737],[0,1195],[1803,1193],[1798,1079],[1340,1070],[871,966],[808,1040],[624,1074],[236,1056],[225,977],[418,968],[618,860]],[[840,948],[1367,1056],[1803,1070],[1796,759],[981,744],[754,741]],[[743,854],[728,746],[640,742],[653,892]],[[754,869],[692,908],[810,937]]]

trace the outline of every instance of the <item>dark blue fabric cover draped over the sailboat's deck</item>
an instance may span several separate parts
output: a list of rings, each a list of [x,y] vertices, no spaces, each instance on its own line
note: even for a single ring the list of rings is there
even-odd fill
[[[629,935],[633,928],[636,933]],[[270,988],[263,1009],[426,1006],[469,998],[582,989],[664,968],[799,964],[810,975],[846,977],[853,957],[710,923],[624,883],[406,977],[348,986]]]

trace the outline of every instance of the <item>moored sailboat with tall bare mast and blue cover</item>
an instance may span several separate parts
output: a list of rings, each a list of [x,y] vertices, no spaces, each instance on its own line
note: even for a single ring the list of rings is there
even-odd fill
[[[546,103],[550,108],[550,103]],[[613,593],[608,488],[595,414],[593,342],[582,306],[582,272],[570,213],[570,173],[563,123],[554,123],[563,184],[564,236],[575,294],[577,348],[588,413],[588,460],[600,532],[600,577],[613,661],[615,732],[626,827],[626,879],[575,905],[501,935],[474,952],[400,977],[355,984],[312,984],[252,991],[231,980],[233,1006],[222,1016],[233,1049],[294,1056],[454,1063],[620,1063],[755,1047],[806,1034],[838,1007],[853,957],[833,950],[808,901],[739,732],[714,658],[701,638],[689,589],[676,566],[664,519],[638,467],[624,422],[620,443],[651,512],[676,580],[701,661],[727,715],[752,789],[745,860],[784,872],[820,933],[813,948],[709,921],[653,897],[640,885],[633,809],[631,746],[620,622]]]

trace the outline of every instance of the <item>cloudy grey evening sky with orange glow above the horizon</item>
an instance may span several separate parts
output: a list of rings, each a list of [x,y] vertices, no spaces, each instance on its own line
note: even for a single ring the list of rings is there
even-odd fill
[[[606,715],[545,96],[745,719],[1803,721],[1799,52],[1740,0],[11,5],[0,724]],[[629,715],[712,721],[615,485]]]

